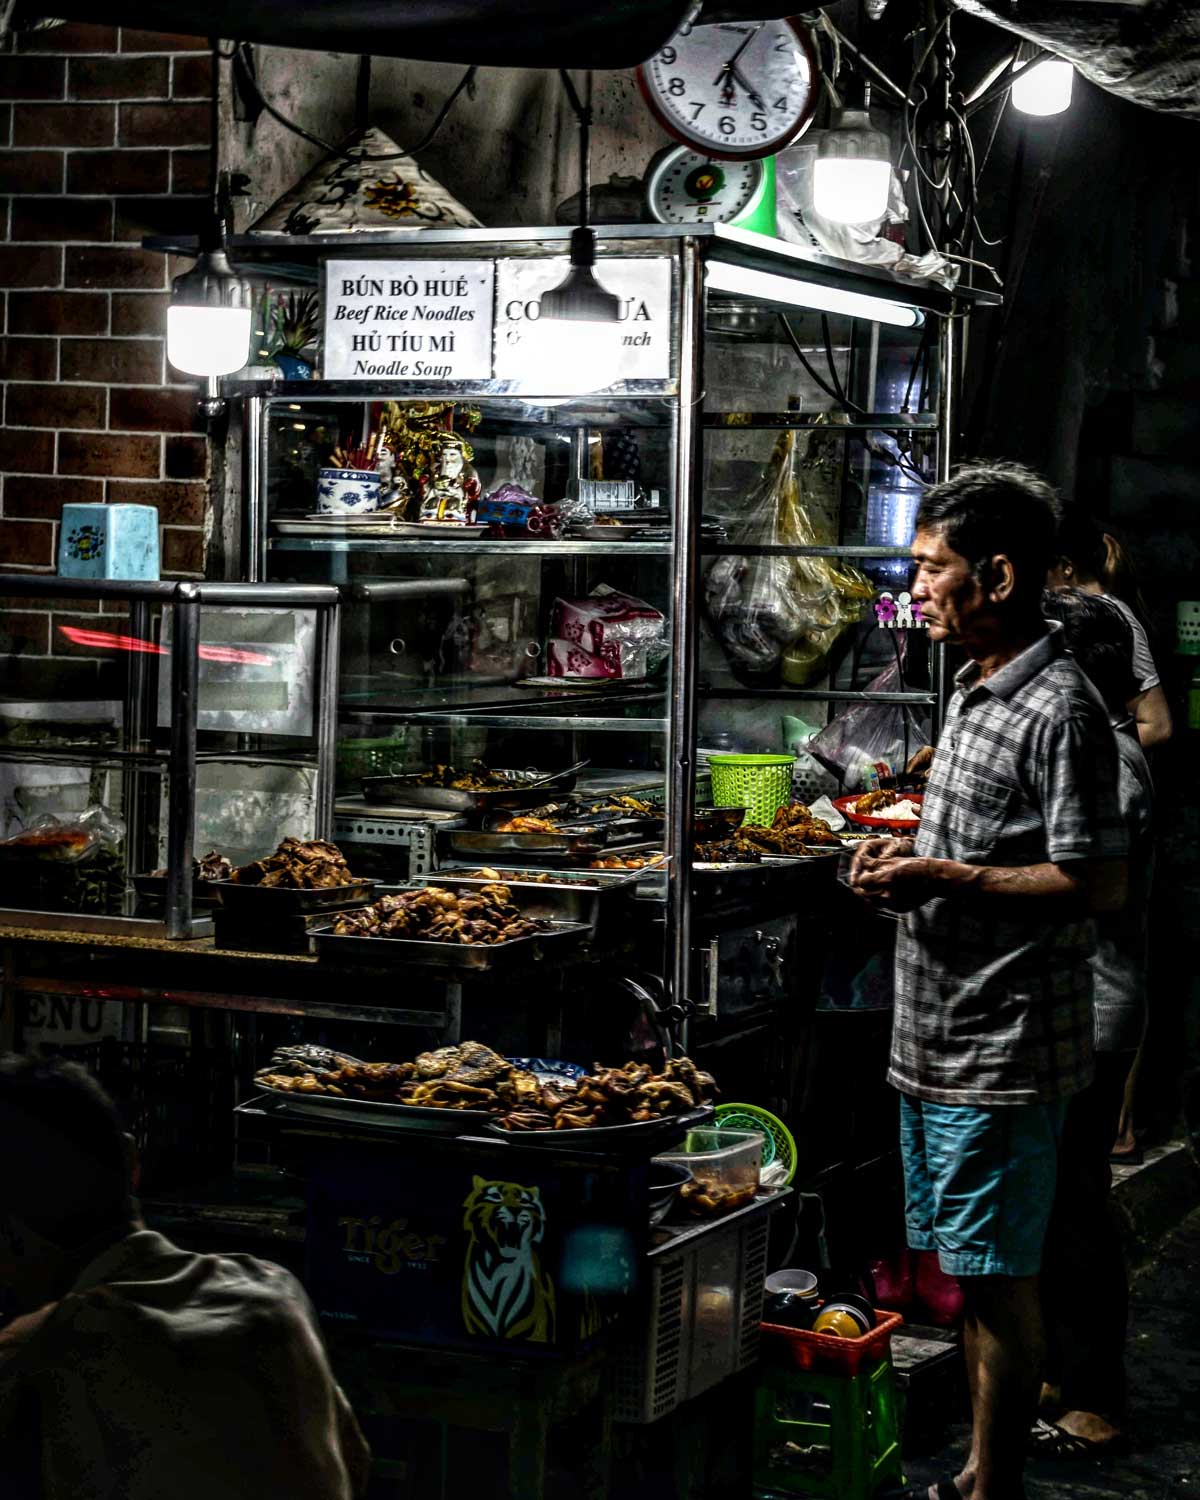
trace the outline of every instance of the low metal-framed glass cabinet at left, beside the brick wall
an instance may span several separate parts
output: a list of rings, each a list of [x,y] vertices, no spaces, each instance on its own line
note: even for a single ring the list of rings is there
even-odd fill
[[[336,588],[14,574],[0,591],[45,616],[0,662],[0,922],[206,936],[195,854],[238,864],[328,836]]]

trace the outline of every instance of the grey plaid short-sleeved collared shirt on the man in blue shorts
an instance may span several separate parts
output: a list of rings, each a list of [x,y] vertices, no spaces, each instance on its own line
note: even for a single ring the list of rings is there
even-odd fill
[[[957,676],[916,855],[980,866],[1120,858],[1113,730],[1052,626]],[[902,918],[888,1082],[936,1104],[1068,1098],[1092,1077],[1095,928],[1060,908],[939,896]]]

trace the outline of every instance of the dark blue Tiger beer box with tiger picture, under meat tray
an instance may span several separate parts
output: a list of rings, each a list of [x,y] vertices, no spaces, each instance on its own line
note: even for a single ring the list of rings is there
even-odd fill
[[[342,1138],[312,1144],[308,1179],[309,1294],[374,1336],[562,1356],[636,1296],[644,1161]]]

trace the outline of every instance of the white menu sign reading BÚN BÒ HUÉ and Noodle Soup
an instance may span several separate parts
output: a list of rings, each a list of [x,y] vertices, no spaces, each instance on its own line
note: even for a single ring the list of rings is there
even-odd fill
[[[328,261],[326,380],[489,380],[492,261]]]

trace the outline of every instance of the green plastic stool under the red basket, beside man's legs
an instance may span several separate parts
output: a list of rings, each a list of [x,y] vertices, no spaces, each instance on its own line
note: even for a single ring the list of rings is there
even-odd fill
[[[766,1364],[754,1401],[754,1500],[870,1500],[903,1485],[891,1356],[856,1376]]]

